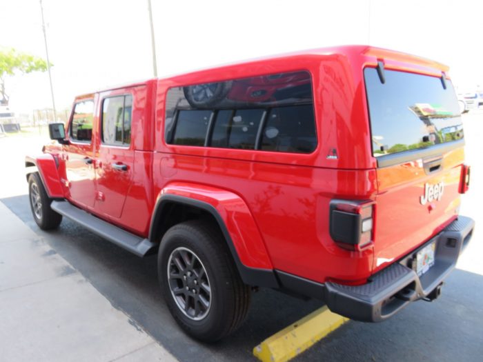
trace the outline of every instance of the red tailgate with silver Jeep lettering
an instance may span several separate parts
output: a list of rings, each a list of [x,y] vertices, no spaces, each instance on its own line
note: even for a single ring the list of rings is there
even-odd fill
[[[384,212],[376,217],[376,271],[422,245],[456,219],[463,160],[462,148],[444,154],[442,171],[434,176],[427,175],[418,161],[377,170],[377,207]],[[424,185],[440,182],[444,182],[442,198],[421,205]]]

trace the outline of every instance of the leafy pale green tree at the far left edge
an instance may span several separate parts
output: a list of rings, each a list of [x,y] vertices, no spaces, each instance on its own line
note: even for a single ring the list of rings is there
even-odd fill
[[[17,52],[14,48],[0,48],[0,104],[8,105],[8,94],[5,91],[5,79],[15,74],[45,72],[47,62],[32,54]]]

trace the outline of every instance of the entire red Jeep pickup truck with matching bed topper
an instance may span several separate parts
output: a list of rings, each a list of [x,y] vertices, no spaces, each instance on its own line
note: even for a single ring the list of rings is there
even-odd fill
[[[344,46],[82,95],[26,159],[33,217],[157,253],[200,340],[233,332],[255,286],[384,321],[437,298],[473,232],[447,71]]]

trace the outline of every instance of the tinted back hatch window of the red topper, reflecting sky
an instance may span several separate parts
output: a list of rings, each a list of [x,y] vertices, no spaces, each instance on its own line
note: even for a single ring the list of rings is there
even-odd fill
[[[383,84],[375,68],[364,78],[376,157],[427,148],[463,138],[463,127],[451,81],[421,74],[385,70]]]

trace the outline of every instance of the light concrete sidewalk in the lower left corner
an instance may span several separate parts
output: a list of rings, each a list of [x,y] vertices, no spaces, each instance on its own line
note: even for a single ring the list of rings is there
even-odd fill
[[[0,361],[176,361],[0,201]]]

